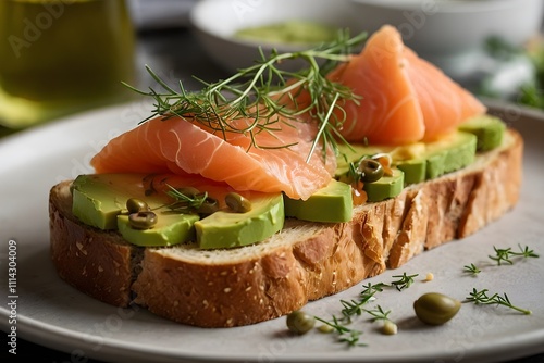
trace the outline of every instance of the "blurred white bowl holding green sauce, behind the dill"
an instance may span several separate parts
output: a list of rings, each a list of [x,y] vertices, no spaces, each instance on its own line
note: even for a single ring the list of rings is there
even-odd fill
[[[200,0],[191,10],[190,23],[211,59],[234,72],[255,64],[260,58],[259,46],[265,54],[272,49],[287,52],[308,48],[238,39],[234,37],[238,29],[289,20],[349,28],[350,10],[350,0]]]

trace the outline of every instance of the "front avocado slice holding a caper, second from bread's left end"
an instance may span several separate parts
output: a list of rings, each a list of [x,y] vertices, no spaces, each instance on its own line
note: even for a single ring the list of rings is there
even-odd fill
[[[135,229],[128,215],[118,215],[118,229],[123,238],[137,246],[172,246],[195,240],[194,224],[198,214],[159,213],[157,224],[149,229]]]

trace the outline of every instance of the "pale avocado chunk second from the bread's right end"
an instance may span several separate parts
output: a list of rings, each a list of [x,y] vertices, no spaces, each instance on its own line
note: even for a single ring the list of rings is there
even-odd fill
[[[433,179],[460,170],[474,161],[477,137],[457,132],[426,147],[426,178]]]

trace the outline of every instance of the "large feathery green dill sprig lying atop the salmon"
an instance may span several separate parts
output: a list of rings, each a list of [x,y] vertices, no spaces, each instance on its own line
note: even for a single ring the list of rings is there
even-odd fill
[[[151,87],[139,90],[125,86],[154,99],[154,110],[141,123],[159,115],[164,118],[186,117],[225,139],[228,133],[247,135],[249,148],[289,147],[261,146],[256,136],[263,132],[273,134],[281,126],[279,122],[295,126],[298,116],[309,114],[319,125],[308,155],[310,159],[318,146],[323,146],[324,155],[327,146],[337,151],[337,140],[344,140],[338,132],[345,121],[342,104],[346,100],[358,102],[359,97],[349,87],[330,80],[326,74],[339,62],[348,61],[353,48],[366,38],[367,33],[350,38],[348,30],[341,30],[335,41],[309,50],[286,53],[273,50],[269,57],[261,50],[261,59],[256,64],[226,79],[207,83],[196,78],[203,85],[199,91],[187,91],[181,80],[180,89],[175,90],[147,65],[146,70],[161,91]],[[299,72],[283,70],[280,65],[289,60],[302,60],[307,67]],[[302,93],[308,100],[298,102],[297,98]]]

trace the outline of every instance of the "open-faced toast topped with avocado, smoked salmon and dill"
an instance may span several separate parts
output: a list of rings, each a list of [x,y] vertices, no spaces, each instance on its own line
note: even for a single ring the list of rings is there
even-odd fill
[[[394,27],[344,53],[360,38],[272,54],[200,92],[151,91],[156,114],[98,152],[96,174],[52,187],[59,275],[113,305],[248,325],[512,208],[519,134]],[[308,68],[276,67],[289,58]]]

